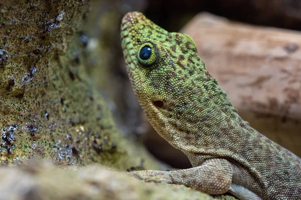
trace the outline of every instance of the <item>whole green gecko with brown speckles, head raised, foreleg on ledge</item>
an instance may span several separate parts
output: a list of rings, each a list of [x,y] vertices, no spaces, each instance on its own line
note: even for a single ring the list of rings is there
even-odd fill
[[[133,171],[135,177],[209,194],[230,192],[242,200],[301,199],[300,158],[238,115],[190,36],[129,12],[122,19],[121,40],[129,79],[147,119],[193,165]]]

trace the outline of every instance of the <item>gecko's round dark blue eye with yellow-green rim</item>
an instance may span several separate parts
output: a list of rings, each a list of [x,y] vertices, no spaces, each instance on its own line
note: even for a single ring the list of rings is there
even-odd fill
[[[137,54],[139,63],[144,67],[153,66],[158,59],[158,50],[153,42],[144,42]]]

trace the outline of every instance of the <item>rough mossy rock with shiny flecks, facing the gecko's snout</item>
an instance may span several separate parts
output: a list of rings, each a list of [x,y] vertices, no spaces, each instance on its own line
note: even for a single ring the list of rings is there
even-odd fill
[[[86,43],[74,36],[88,9],[88,0],[1,2],[0,162],[41,154],[60,166],[159,167],[87,83]]]

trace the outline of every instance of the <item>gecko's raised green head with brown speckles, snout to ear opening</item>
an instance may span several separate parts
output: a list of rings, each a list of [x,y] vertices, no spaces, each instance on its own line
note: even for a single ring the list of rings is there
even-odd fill
[[[121,46],[132,88],[147,119],[170,143],[177,142],[177,123],[185,122],[188,114],[195,115],[189,104],[203,88],[194,84],[210,76],[194,41],[187,34],[168,32],[140,12],[128,12],[121,22]]]

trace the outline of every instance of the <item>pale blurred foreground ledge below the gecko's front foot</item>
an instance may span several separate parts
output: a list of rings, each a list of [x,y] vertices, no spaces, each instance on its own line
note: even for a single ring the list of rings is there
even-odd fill
[[[0,199],[213,199],[184,185],[142,182],[95,165],[59,169],[45,162],[0,167]],[[221,199],[235,199],[232,197]]]

